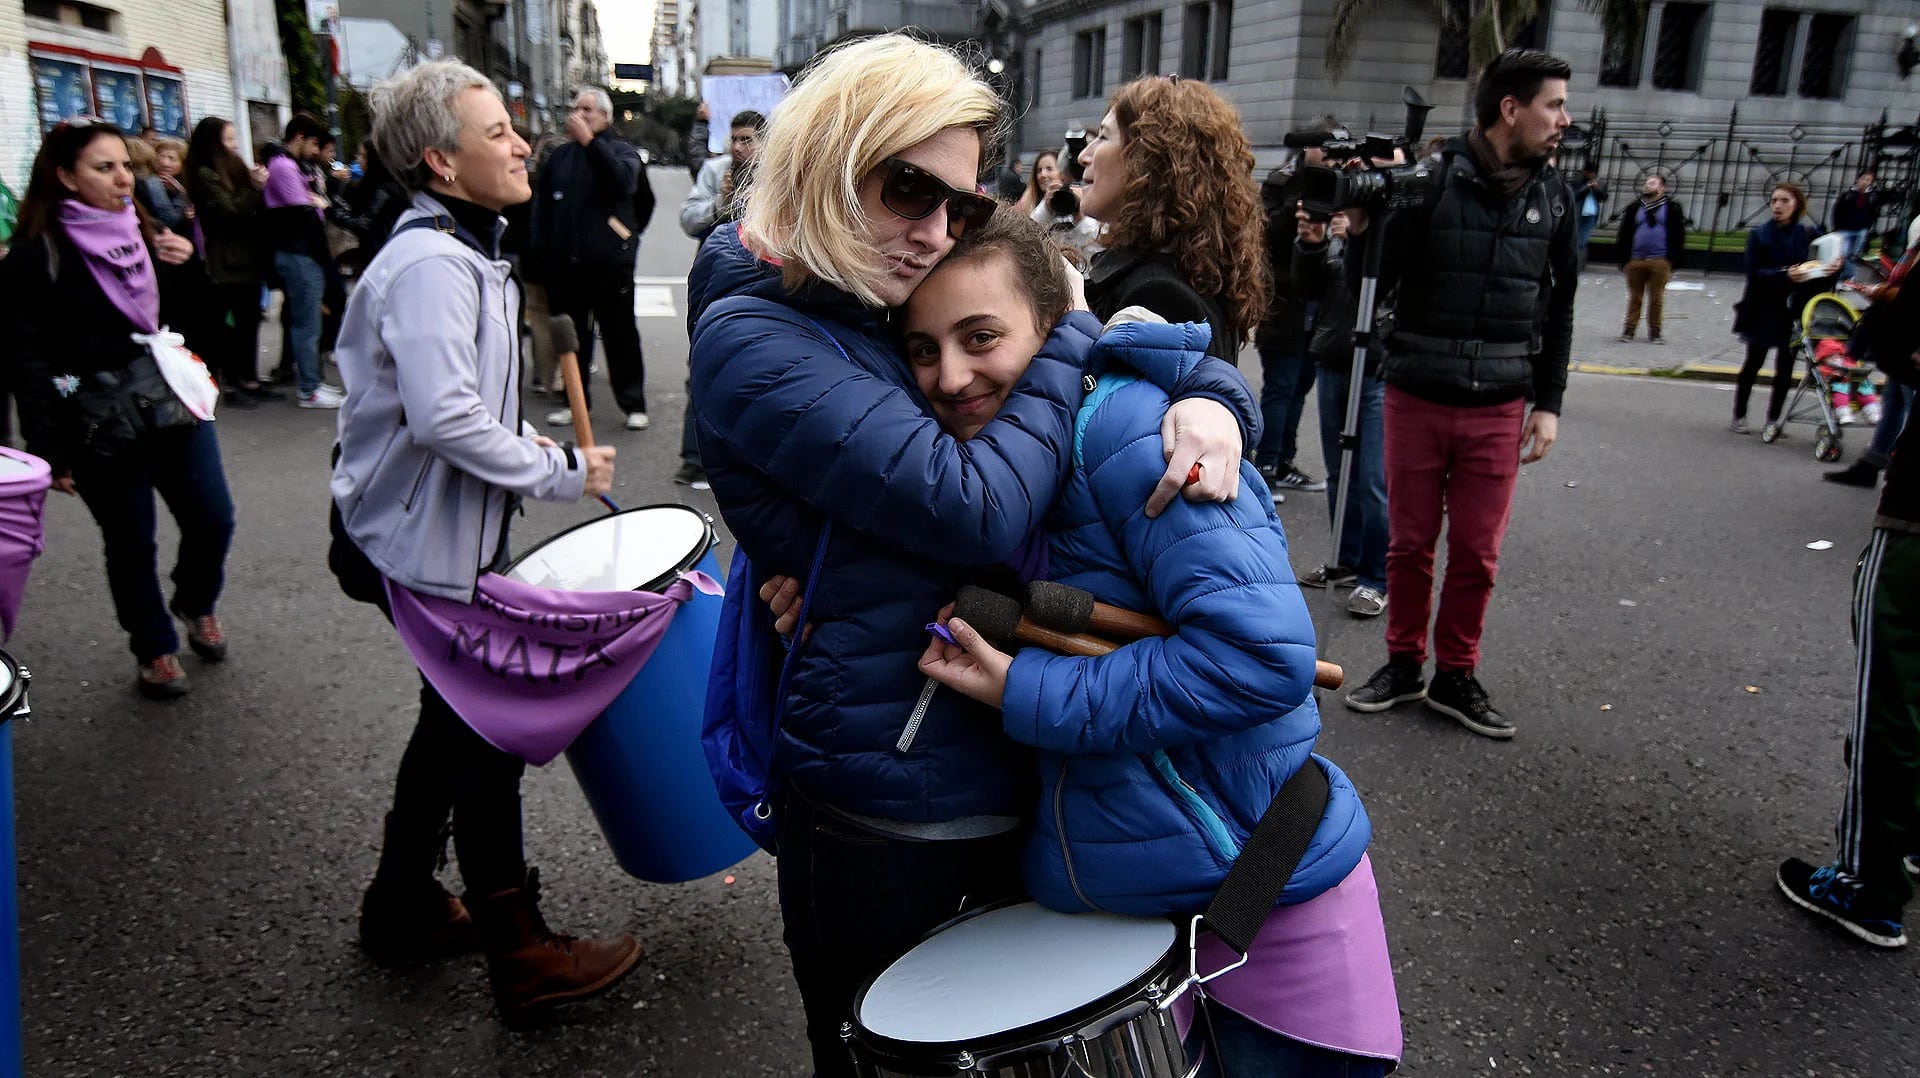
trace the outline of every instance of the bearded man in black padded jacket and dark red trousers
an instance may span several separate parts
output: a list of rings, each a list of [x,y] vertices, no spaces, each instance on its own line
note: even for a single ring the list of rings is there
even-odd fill
[[[1386,221],[1380,290],[1398,288],[1380,371],[1394,603],[1388,661],[1346,698],[1354,711],[1427,699],[1476,734],[1513,736],[1475,667],[1519,465],[1553,448],[1567,388],[1578,208],[1546,161],[1569,125],[1571,73],[1538,50],[1500,54],[1480,75],[1475,129],[1446,146],[1427,198]],[[1442,517],[1448,569],[1428,688]]]

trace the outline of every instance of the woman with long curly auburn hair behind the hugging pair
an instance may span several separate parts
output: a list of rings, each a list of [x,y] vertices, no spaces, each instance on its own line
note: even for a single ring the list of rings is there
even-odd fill
[[[1140,306],[1173,323],[1208,323],[1208,355],[1233,363],[1271,286],[1240,115],[1206,83],[1135,79],[1114,90],[1081,163],[1081,209],[1106,223],[1108,250],[1087,279],[1092,313]]]

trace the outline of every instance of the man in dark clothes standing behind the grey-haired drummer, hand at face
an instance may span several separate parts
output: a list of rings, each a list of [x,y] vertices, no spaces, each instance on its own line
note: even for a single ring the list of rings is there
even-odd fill
[[[634,321],[634,256],[647,223],[636,217],[634,204],[647,179],[639,150],[612,133],[607,90],[580,90],[574,110],[566,113],[566,142],[540,167],[538,183],[532,275],[547,286],[547,307],[574,319],[582,371],[588,369],[593,327],[599,325],[607,380],[626,413],[626,429],[645,430],[647,361],[639,352],[639,323]],[[591,384],[588,379],[582,382]],[[570,421],[572,413],[564,407],[547,415],[553,427]]]

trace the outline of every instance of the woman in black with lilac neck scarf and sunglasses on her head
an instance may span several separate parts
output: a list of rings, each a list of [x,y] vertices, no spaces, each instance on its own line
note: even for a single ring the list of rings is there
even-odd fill
[[[117,407],[113,386],[152,371],[142,340],[188,315],[169,296],[159,263],[184,265],[194,244],[156,233],[132,206],[132,165],[117,127],[75,121],[40,144],[19,206],[0,290],[13,309],[8,380],[19,398],[27,450],[46,459],[54,488],[79,494],[106,540],[108,586],[138,661],[134,688],[150,699],[186,692],[173,619],[213,663],[227,638],[213,603],[234,530],[232,498],[211,423],[173,407]],[[179,321],[179,319],[173,319]],[[146,386],[157,396],[157,386]],[[165,415],[163,415],[165,413]],[[156,567],[154,494],[180,528],[173,600]]]

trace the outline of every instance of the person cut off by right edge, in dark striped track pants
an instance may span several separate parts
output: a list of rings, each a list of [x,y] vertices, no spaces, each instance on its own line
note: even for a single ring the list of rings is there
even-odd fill
[[[1920,386],[1920,290],[1872,319],[1872,355],[1887,377]],[[1859,649],[1839,849],[1814,867],[1780,865],[1776,882],[1801,909],[1878,947],[1907,945],[1905,907],[1920,869],[1920,425],[1893,444],[1874,534],[1853,576]]]

